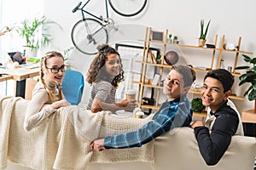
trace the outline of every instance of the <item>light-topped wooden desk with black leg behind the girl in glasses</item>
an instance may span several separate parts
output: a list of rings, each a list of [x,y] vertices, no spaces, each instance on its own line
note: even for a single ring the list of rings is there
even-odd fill
[[[20,96],[25,99],[25,89],[26,89],[26,78],[36,77],[40,73],[40,68],[16,68],[12,70],[2,69],[1,72],[7,74],[0,77],[0,82],[7,80],[16,81],[16,96]]]

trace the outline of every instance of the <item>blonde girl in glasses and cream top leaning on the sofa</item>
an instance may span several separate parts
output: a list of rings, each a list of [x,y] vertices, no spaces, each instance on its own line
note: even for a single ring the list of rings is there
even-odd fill
[[[26,110],[24,128],[26,131],[37,127],[56,109],[71,105],[63,96],[61,83],[67,66],[62,54],[51,51],[41,59],[40,82],[32,92],[32,100]],[[44,106],[47,104],[46,106]],[[44,106],[44,107],[43,107]]]

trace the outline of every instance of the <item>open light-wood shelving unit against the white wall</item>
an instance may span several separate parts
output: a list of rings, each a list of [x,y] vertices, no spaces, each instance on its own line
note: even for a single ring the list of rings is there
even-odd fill
[[[215,40],[214,40],[214,46],[215,48],[205,48],[205,47],[198,47],[198,46],[194,46],[194,45],[186,45],[186,44],[174,44],[174,43],[168,43],[167,40],[167,35],[168,35],[168,30],[166,31],[162,31],[164,33],[163,37],[165,37],[163,39],[163,41],[152,41],[151,39],[151,35],[152,35],[152,28],[148,27],[146,30],[146,35],[145,35],[145,39],[144,40],[139,40],[139,41],[143,41],[144,43],[144,47],[143,47],[143,60],[142,61],[137,61],[139,63],[142,64],[142,68],[141,68],[141,76],[140,76],[140,80],[138,82],[134,82],[139,84],[139,88],[138,88],[138,106],[142,107],[142,108],[148,108],[148,109],[156,109],[160,106],[159,104],[159,98],[160,98],[160,90],[162,90],[163,87],[160,86],[160,80],[161,80],[161,75],[163,73],[163,68],[172,68],[172,65],[166,65],[164,62],[164,55],[166,54],[166,47],[170,46],[170,47],[181,47],[181,48],[195,48],[198,50],[210,50],[212,52],[212,59],[211,59],[211,63],[209,68],[202,70],[200,68],[194,68],[195,71],[198,72],[207,72],[212,70],[212,66],[213,66],[213,62],[214,62],[214,58],[216,55],[216,52],[218,51],[218,65],[217,67],[220,67],[220,61],[223,57],[224,53],[234,53],[235,54],[235,59],[234,59],[234,69],[232,71],[232,75],[239,77],[241,76],[240,73],[236,72],[236,66],[237,66],[237,59],[239,57],[239,54],[253,54],[252,52],[247,52],[247,51],[242,51],[240,48],[238,48],[237,50],[228,50],[228,49],[224,49],[224,38],[225,36],[222,37],[221,39],[221,43],[220,43],[220,47],[217,48],[217,42],[218,42],[218,35],[215,36]],[[161,59],[159,63],[155,63],[153,62],[153,60],[150,58],[150,45],[151,44],[158,44],[161,45]],[[238,47],[241,47],[241,37],[239,37],[238,43],[237,43]],[[159,68],[159,74],[160,74],[160,80],[158,82],[157,85],[152,85],[152,84],[148,84],[148,82],[145,82],[145,76],[147,75],[147,66],[148,65],[154,65],[156,67]],[[144,93],[144,88],[154,88],[156,89],[156,97],[155,97],[155,104],[154,105],[143,105],[143,93]],[[198,90],[189,90],[189,93],[192,94],[201,94],[200,89]],[[239,100],[243,100],[243,97],[240,96],[235,96],[235,95],[231,95],[230,99],[239,99]],[[196,113],[195,113],[196,114]]]

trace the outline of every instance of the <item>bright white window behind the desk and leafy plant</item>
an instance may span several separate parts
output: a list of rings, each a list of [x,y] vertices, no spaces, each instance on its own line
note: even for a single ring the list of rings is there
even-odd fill
[[[3,26],[12,28],[15,23],[21,20],[31,19],[31,17],[41,16],[43,14],[43,0],[1,0],[0,1],[0,29]],[[9,58],[8,52],[22,52],[24,42],[16,31],[10,31],[0,37],[0,63],[6,62]],[[8,85],[7,85],[8,83]],[[7,90],[6,88],[9,87]],[[0,82],[0,95],[13,95],[14,81]]]

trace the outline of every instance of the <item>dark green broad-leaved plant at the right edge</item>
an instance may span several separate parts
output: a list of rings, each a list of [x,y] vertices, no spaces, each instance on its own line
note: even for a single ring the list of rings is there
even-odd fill
[[[246,73],[239,77],[239,80],[241,81],[239,86],[245,83],[251,84],[243,95],[247,95],[250,101],[254,100],[254,113],[256,113],[256,57],[252,58],[246,54],[242,54],[242,56],[247,63],[251,64],[251,66],[245,65],[236,67],[236,70],[246,70]]]

